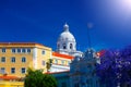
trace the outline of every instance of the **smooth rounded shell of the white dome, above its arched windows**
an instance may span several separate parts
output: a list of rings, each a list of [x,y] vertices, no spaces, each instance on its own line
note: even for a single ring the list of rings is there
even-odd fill
[[[75,41],[75,38],[70,32],[63,32],[61,33],[59,40]]]

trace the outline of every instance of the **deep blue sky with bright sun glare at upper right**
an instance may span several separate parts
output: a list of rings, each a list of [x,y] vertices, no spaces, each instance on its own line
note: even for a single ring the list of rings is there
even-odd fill
[[[129,3],[129,2],[128,2]],[[39,42],[56,49],[67,22],[78,49],[131,45],[131,5],[121,0],[0,0],[0,41]]]

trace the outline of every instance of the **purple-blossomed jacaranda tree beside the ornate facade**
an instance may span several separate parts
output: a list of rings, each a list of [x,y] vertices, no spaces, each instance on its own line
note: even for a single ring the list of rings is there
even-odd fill
[[[106,50],[97,64],[100,87],[131,86],[131,47]]]

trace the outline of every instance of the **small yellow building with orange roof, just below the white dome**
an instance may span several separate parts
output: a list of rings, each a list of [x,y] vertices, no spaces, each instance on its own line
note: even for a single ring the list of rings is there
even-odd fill
[[[52,65],[50,72],[70,71],[70,63],[73,59],[74,57],[69,54],[52,52]]]

